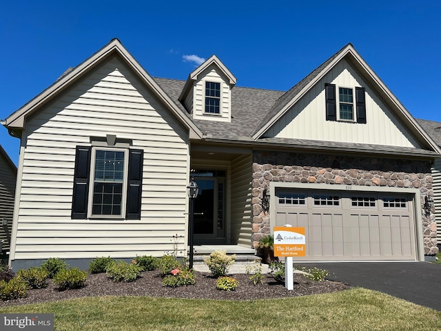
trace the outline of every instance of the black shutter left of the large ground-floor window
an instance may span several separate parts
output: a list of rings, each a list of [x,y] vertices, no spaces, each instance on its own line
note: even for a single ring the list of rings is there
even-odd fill
[[[85,219],[88,216],[91,150],[90,146],[76,146],[72,219]]]

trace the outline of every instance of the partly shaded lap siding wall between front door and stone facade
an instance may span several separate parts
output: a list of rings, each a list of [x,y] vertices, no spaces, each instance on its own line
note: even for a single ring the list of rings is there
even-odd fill
[[[252,245],[252,157],[232,161],[232,243]]]

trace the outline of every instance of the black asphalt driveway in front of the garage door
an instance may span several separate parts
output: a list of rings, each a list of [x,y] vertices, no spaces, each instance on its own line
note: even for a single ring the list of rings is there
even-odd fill
[[[330,275],[327,279],[377,290],[441,311],[441,265],[429,262],[332,262],[303,265],[328,270]]]

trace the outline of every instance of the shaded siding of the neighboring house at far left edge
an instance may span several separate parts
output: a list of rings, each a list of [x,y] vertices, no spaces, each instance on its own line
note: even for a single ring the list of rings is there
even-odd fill
[[[0,241],[3,241],[3,252],[10,248],[16,179],[17,169],[10,165],[10,161],[0,151]],[[1,225],[3,219],[8,221],[8,225]]]

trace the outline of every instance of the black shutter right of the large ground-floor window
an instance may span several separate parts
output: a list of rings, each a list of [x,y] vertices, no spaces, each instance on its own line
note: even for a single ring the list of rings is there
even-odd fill
[[[129,150],[126,219],[141,219],[141,191],[143,190],[143,150]]]

